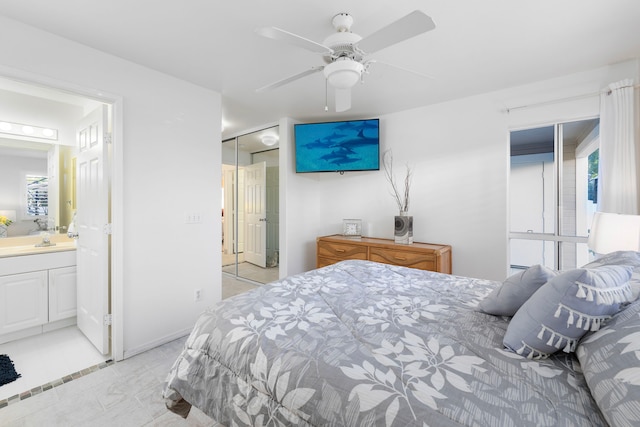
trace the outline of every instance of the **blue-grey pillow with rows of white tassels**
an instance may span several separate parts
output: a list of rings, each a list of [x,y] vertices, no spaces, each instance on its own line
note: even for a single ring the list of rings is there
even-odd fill
[[[545,283],[511,319],[504,345],[529,359],[574,351],[589,330],[629,301],[631,267],[603,266],[563,272]]]

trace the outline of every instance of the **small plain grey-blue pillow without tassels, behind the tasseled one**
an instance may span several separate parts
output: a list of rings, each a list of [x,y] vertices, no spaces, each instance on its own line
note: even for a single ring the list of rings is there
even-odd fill
[[[534,265],[510,276],[478,304],[478,310],[496,316],[513,316],[535,291],[556,276],[543,265]]]

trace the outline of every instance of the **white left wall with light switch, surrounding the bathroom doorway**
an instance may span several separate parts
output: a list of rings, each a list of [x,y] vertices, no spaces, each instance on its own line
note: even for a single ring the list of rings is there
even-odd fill
[[[125,357],[185,333],[221,294],[220,94],[4,17],[0,40],[12,41],[0,44],[0,74],[122,98],[113,280],[123,303],[114,322]],[[202,223],[184,224],[185,211]]]

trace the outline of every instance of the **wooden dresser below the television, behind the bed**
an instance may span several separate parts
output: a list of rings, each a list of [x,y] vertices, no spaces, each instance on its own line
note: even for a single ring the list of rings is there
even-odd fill
[[[365,259],[451,274],[449,245],[401,245],[390,239],[354,239],[340,234],[317,238],[316,267],[324,267],[346,259]]]

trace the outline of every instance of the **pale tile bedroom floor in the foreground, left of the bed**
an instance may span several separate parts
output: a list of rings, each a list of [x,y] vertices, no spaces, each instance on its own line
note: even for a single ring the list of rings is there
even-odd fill
[[[9,404],[0,425],[220,426],[201,411],[184,420],[169,412],[162,387],[186,337]]]

